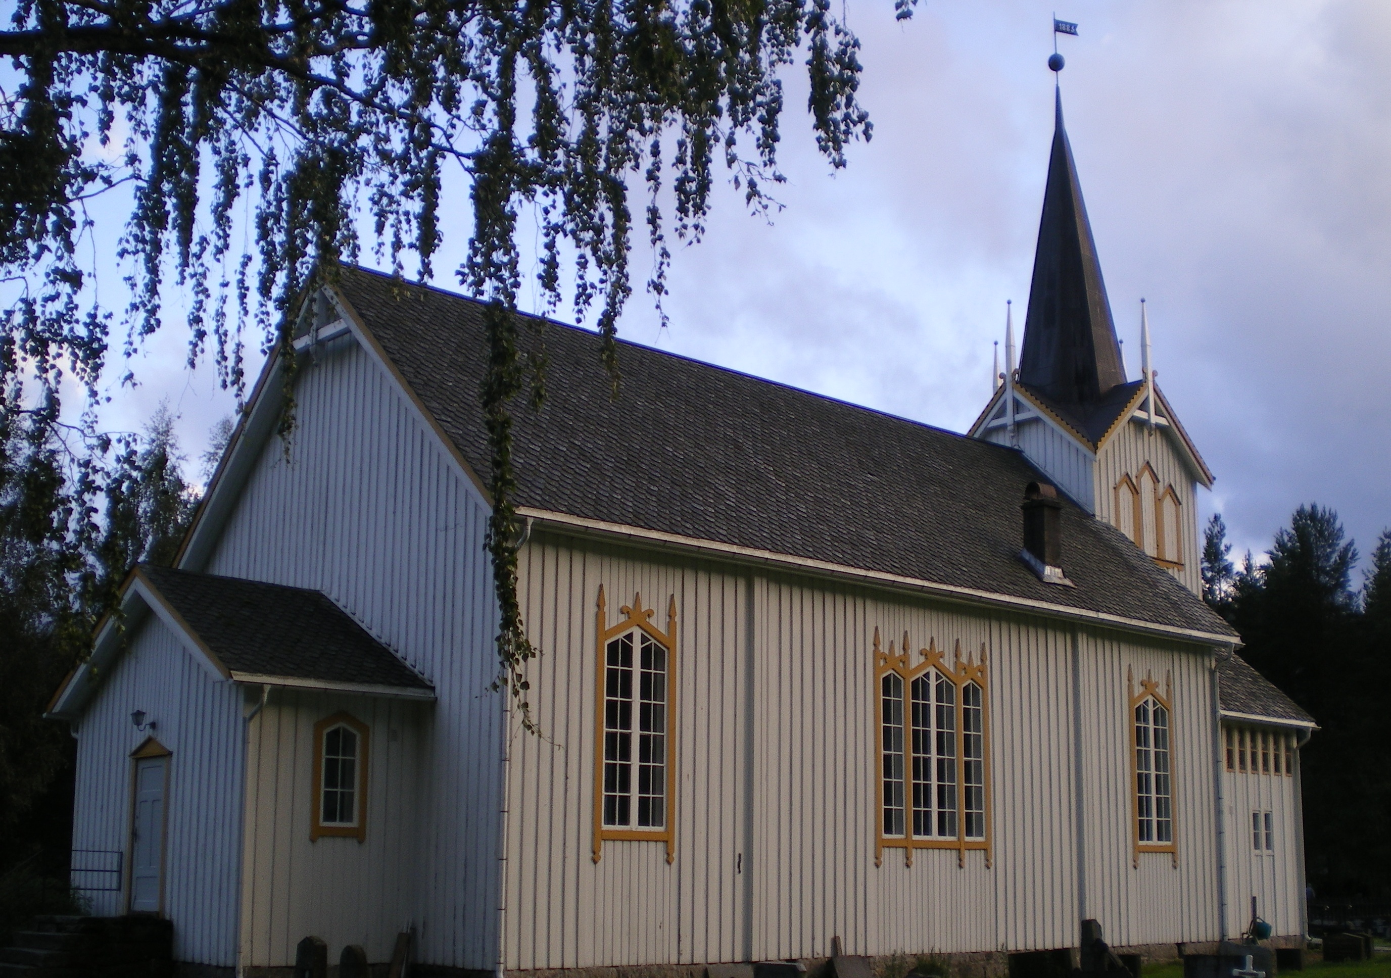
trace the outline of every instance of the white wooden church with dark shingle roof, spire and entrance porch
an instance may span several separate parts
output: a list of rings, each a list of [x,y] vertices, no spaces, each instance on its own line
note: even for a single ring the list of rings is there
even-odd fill
[[[256,387],[170,569],[50,715],[93,913],[186,975],[296,943],[479,975],[1305,929],[1314,729],[1199,600],[1212,474],[1128,380],[1063,129],[1022,349],[967,435],[542,327],[519,409],[523,733],[495,604],[473,300],[346,268],[306,303],[298,430]],[[523,331],[531,335],[531,331]],[[606,971],[605,974],[615,974]],[[638,974],[627,971],[625,974]],[[654,972],[655,974],[655,972]]]

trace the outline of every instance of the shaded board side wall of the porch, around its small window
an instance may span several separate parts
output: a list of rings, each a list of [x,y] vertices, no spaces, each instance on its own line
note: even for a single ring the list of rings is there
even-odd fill
[[[402,700],[271,693],[249,729],[242,954],[288,967],[309,933],[332,952],[362,945],[391,960],[396,932],[413,917],[420,842],[424,716]],[[345,711],[367,737],[364,839],[310,842],[314,723]]]

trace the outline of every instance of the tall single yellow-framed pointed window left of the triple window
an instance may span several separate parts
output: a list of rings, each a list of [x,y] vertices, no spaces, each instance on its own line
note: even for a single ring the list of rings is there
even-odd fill
[[[666,632],[651,623],[643,595],[623,605],[623,618],[608,625],[600,587],[595,632],[594,851],[604,842],[666,843],[676,858],[676,595],[666,612]]]

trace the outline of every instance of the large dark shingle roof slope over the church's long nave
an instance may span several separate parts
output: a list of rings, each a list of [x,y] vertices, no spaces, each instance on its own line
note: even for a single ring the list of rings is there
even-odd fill
[[[352,267],[335,288],[487,480],[483,306]],[[526,319],[549,366],[545,406],[513,409],[522,506],[1237,637],[1072,505],[1075,587],[1042,583],[1018,556],[1020,502],[1046,479],[1018,451],[626,342],[615,399],[595,334]]]

